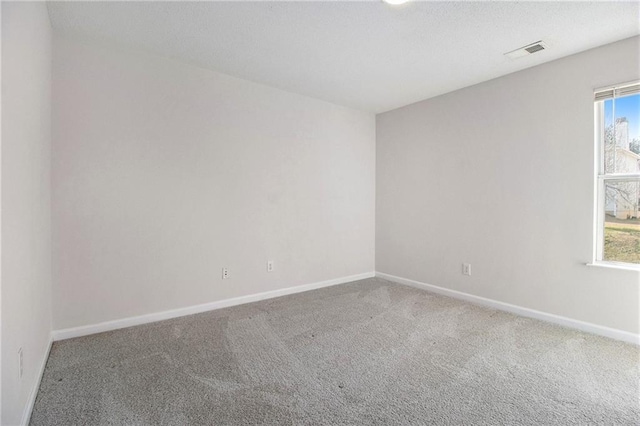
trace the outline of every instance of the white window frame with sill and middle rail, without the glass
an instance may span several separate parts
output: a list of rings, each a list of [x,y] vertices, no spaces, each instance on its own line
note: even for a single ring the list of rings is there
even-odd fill
[[[594,148],[595,148],[595,164],[594,164],[594,244],[593,259],[589,265],[605,266],[618,269],[630,269],[640,271],[640,264],[618,262],[612,260],[604,260],[604,233],[605,233],[605,184],[607,181],[638,181],[640,182],[640,170],[636,173],[607,173],[605,169],[605,116],[604,103],[607,99],[616,99],[620,97],[633,96],[640,92],[625,93],[626,88],[640,85],[640,80],[628,83],[608,86],[594,90]],[[616,94],[622,91],[622,94]],[[602,98],[602,94],[607,93],[611,96]],[[615,117],[613,117],[615,123]],[[614,124],[615,126],[615,124]],[[615,127],[614,127],[615,128]],[[615,147],[614,147],[615,149]]]

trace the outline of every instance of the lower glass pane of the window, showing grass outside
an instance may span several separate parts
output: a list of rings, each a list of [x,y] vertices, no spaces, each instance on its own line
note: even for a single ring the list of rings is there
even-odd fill
[[[605,181],[603,260],[640,264],[640,179]]]

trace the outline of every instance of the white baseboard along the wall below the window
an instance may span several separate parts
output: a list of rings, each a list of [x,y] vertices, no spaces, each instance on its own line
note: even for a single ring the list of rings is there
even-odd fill
[[[408,285],[411,287],[420,288],[423,290],[431,291],[433,293],[442,294],[444,296],[453,297],[455,299],[465,300],[477,305],[483,305],[490,308],[498,309],[501,311],[511,312],[523,317],[534,318],[554,324],[562,325],[564,327],[574,328],[576,330],[585,331],[587,333],[597,334],[604,337],[609,337],[616,340],[622,340],[624,342],[634,343],[640,345],[640,334],[630,333],[628,331],[618,330],[615,328],[604,327],[597,324],[592,324],[584,321],[579,321],[560,315],[549,314],[546,312],[536,311],[535,309],[524,308],[522,306],[511,305],[509,303],[499,302],[493,299],[487,299],[480,296],[474,296],[469,293],[463,293],[461,291],[450,290],[443,287],[438,287],[431,284],[425,284],[419,281],[410,280],[407,278],[397,277],[395,275],[385,274],[383,272],[376,272],[376,277],[383,278],[388,281],[393,281],[399,284]]]

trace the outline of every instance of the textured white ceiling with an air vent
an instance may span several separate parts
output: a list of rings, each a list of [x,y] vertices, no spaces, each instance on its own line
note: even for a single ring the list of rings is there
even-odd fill
[[[638,2],[50,2],[56,31],[382,112],[640,33]],[[550,49],[516,61],[538,40]]]

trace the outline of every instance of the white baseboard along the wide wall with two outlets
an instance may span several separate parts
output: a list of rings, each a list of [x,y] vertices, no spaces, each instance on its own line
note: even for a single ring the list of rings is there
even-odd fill
[[[150,322],[162,321],[171,318],[183,317],[186,315],[199,314],[202,312],[213,311],[215,309],[228,308],[230,306],[242,305],[245,303],[258,302],[260,300],[272,299],[274,297],[286,296],[288,294],[302,293],[304,291],[315,290],[322,287],[329,287],[337,284],[344,284],[351,281],[372,278],[375,272],[366,272],[363,274],[350,275],[333,280],[320,281],[311,284],[304,284],[295,287],[288,287],[279,290],[265,291],[263,293],[250,294],[247,296],[234,297],[231,299],[218,300],[215,302],[204,303],[202,305],[187,306],[185,308],[172,309],[169,311],[156,312],[136,317],[123,318],[113,321],[101,322],[99,324],[85,325],[81,327],[65,328],[55,330],[53,332],[53,340],[71,339],[73,337],[87,336],[90,334],[102,333],[105,331],[117,330],[120,328],[132,327],[134,325],[147,324]]]

